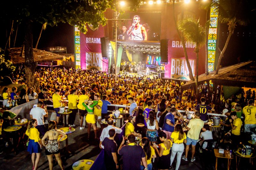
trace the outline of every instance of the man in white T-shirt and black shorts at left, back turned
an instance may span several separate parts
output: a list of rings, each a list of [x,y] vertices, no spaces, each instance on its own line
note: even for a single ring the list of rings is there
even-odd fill
[[[46,130],[44,126],[44,117],[48,117],[47,106],[43,107],[43,102],[39,101],[37,107],[30,110],[30,117],[37,120],[36,129],[44,136]]]

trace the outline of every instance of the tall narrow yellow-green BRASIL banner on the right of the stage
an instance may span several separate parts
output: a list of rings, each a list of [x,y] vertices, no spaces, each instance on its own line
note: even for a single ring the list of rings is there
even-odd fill
[[[218,11],[211,7],[210,13],[210,27],[208,34],[208,71],[214,70],[214,62],[216,57],[216,41],[217,41],[217,27],[218,27]]]

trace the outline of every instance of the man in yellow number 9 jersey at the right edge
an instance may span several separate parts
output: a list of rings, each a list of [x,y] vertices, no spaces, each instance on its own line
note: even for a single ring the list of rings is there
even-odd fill
[[[248,106],[245,106],[243,109],[243,113],[245,116],[244,119],[244,131],[247,133],[251,132],[252,128],[256,127],[256,118],[255,118],[255,113],[256,113],[256,107],[253,106],[254,100],[249,100]]]

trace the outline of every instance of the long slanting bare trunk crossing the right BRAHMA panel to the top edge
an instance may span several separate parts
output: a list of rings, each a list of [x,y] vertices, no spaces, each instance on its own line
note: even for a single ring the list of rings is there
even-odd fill
[[[181,43],[182,43],[182,46],[183,46],[183,51],[184,51],[184,54],[185,54],[185,59],[186,59],[186,62],[187,62],[187,65],[188,65],[188,71],[189,71],[189,78],[190,80],[192,81],[195,81],[194,77],[193,77],[193,72],[192,72],[192,69],[191,69],[191,66],[190,66],[190,63],[189,63],[189,60],[188,60],[188,53],[187,53],[187,50],[186,50],[186,45],[185,45],[185,41],[184,41],[184,38],[181,37],[180,35],[180,31],[179,31],[179,28],[178,28],[178,25],[177,25],[177,21],[176,21],[176,18],[175,18],[175,2],[172,1],[172,7],[173,7],[173,18],[174,18],[174,23],[175,23],[175,27],[176,27],[176,30],[177,30],[177,33],[180,37],[180,40],[181,40]]]

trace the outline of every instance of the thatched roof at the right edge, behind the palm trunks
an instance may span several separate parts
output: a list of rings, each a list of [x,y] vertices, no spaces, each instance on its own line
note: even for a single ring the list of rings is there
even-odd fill
[[[201,74],[198,76],[198,83],[203,83],[207,80],[218,85],[235,86],[235,87],[256,87],[256,61],[247,61],[232,66],[220,68],[219,73],[216,71],[210,72],[207,76]],[[182,86],[186,89],[191,85],[195,85],[196,81],[188,81]]]

